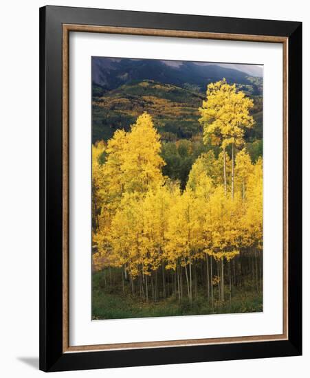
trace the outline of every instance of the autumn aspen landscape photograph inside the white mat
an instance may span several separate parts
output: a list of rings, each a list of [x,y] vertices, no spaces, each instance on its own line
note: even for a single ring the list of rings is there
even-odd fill
[[[92,320],[262,312],[263,65],[91,56],[91,139]]]

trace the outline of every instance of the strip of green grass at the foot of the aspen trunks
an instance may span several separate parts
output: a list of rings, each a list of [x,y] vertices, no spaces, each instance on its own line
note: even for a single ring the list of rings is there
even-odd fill
[[[129,287],[125,287],[125,291],[122,293],[122,287],[118,285],[109,287],[109,282],[107,285],[105,287],[102,272],[93,273],[93,320],[263,311],[263,296],[261,293],[257,293],[251,282],[245,282],[245,286],[242,288],[234,288],[231,301],[228,288],[226,288],[225,302],[217,299],[217,287],[214,287],[213,307],[202,289],[198,291],[197,298],[194,298],[190,304],[187,298],[179,302],[174,295],[157,302],[152,300],[146,302],[138,296],[132,296]],[[185,288],[184,293],[186,293]]]

